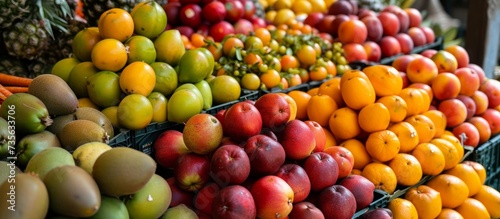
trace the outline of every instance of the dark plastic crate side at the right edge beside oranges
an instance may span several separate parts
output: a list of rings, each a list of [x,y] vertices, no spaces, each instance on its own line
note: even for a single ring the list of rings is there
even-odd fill
[[[500,189],[500,135],[478,146],[468,160],[482,164],[488,176],[485,184]]]

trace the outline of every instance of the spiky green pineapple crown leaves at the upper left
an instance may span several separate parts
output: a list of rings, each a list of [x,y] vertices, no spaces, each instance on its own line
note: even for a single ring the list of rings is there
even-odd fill
[[[65,0],[37,0],[35,1],[39,16],[44,21],[45,30],[54,39],[54,30],[68,33],[68,22],[64,18],[73,17],[71,8]]]

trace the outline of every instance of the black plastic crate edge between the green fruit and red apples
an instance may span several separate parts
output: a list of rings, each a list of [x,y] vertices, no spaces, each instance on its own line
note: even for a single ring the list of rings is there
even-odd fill
[[[242,90],[238,100],[227,102],[224,104],[215,105],[203,113],[215,115],[221,109],[228,109],[235,103],[245,100],[256,100],[259,97],[258,91]],[[111,147],[130,147],[144,152],[147,155],[153,156],[153,143],[166,130],[175,129],[182,131],[182,125],[175,122],[154,122],[140,130],[120,130],[110,141]]]

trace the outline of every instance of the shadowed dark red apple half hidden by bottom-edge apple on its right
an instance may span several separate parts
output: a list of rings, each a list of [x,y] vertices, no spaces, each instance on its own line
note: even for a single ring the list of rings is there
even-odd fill
[[[193,205],[206,215],[212,215],[212,203],[221,187],[217,183],[209,182],[196,193],[193,199]]]

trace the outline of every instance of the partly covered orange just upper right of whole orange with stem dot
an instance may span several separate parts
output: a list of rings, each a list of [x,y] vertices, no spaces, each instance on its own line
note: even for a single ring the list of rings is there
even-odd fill
[[[400,148],[399,152],[408,153],[418,145],[418,133],[415,128],[407,122],[394,123],[388,130],[394,132],[398,136]]]

